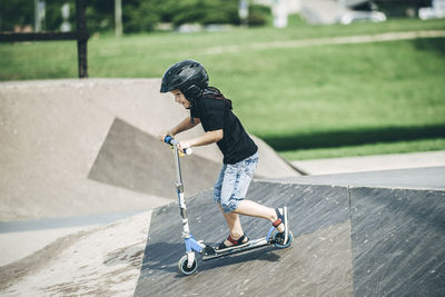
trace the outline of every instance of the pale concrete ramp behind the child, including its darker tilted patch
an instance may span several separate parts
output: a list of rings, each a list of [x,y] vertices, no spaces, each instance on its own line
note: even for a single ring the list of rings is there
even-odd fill
[[[188,111],[159,86],[159,79],[0,82],[0,221],[146,210],[176,199],[172,157],[155,136]],[[258,142],[259,176],[298,176]],[[185,169],[188,194],[210,188],[221,162],[216,146],[195,152]]]

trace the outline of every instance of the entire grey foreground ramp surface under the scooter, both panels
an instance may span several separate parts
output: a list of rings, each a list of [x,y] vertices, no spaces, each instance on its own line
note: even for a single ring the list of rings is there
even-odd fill
[[[294,244],[200,263],[184,277],[178,206],[154,212],[136,296],[444,296],[445,191],[279,181],[253,182],[249,199],[289,207]],[[188,200],[191,230],[227,236],[210,192]],[[250,238],[269,222],[241,218]]]

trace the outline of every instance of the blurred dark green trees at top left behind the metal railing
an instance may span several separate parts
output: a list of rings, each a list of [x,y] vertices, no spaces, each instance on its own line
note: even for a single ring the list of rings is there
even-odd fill
[[[70,22],[76,28],[73,0],[47,0],[44,30],[59,30],[62,22],[61,7],[70,3]],[[0,31],[13,30],[14,26],[33,26],[34,7],[30,0],[0,0]],[[115,1],[86,1],[87,26],[90,33],[112,30]],[[261,14],[256,9],[255,24]],[[159,22],[184,23],[231,23],[239,24],[238,0],[122,0],[122,23],[125,32],[152,31]],[[264,22],[263,22],[264,23]]]

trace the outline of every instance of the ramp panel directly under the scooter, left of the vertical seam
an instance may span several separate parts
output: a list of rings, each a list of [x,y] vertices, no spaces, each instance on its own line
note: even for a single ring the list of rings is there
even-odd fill
[[[352,294],[346,188],[318,187],[315,191],[312,186],[253,182],[248,197],[268,206],[289,206],[295,236],[293,248],[267,247],[206,261],[200,264],[198,274],[181,277],[177,268],[177,261],[185,254],[181,224],[178,206],[171,204],[152,214],[136,296]],[[187,207],[197,239],[211,244],[227,237],[226,222],[210,192],[189,199]],[[241,222],[249,238],[264,237],[270,225],[247,217]]]

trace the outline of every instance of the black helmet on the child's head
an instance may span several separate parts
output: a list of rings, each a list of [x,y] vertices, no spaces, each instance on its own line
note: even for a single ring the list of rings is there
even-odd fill
[[[202,95],[208,86],[208,75],[204,67],[194,60],[185,60],[171,66],[162,77],[160,92],[181,90],[187,99]]]

